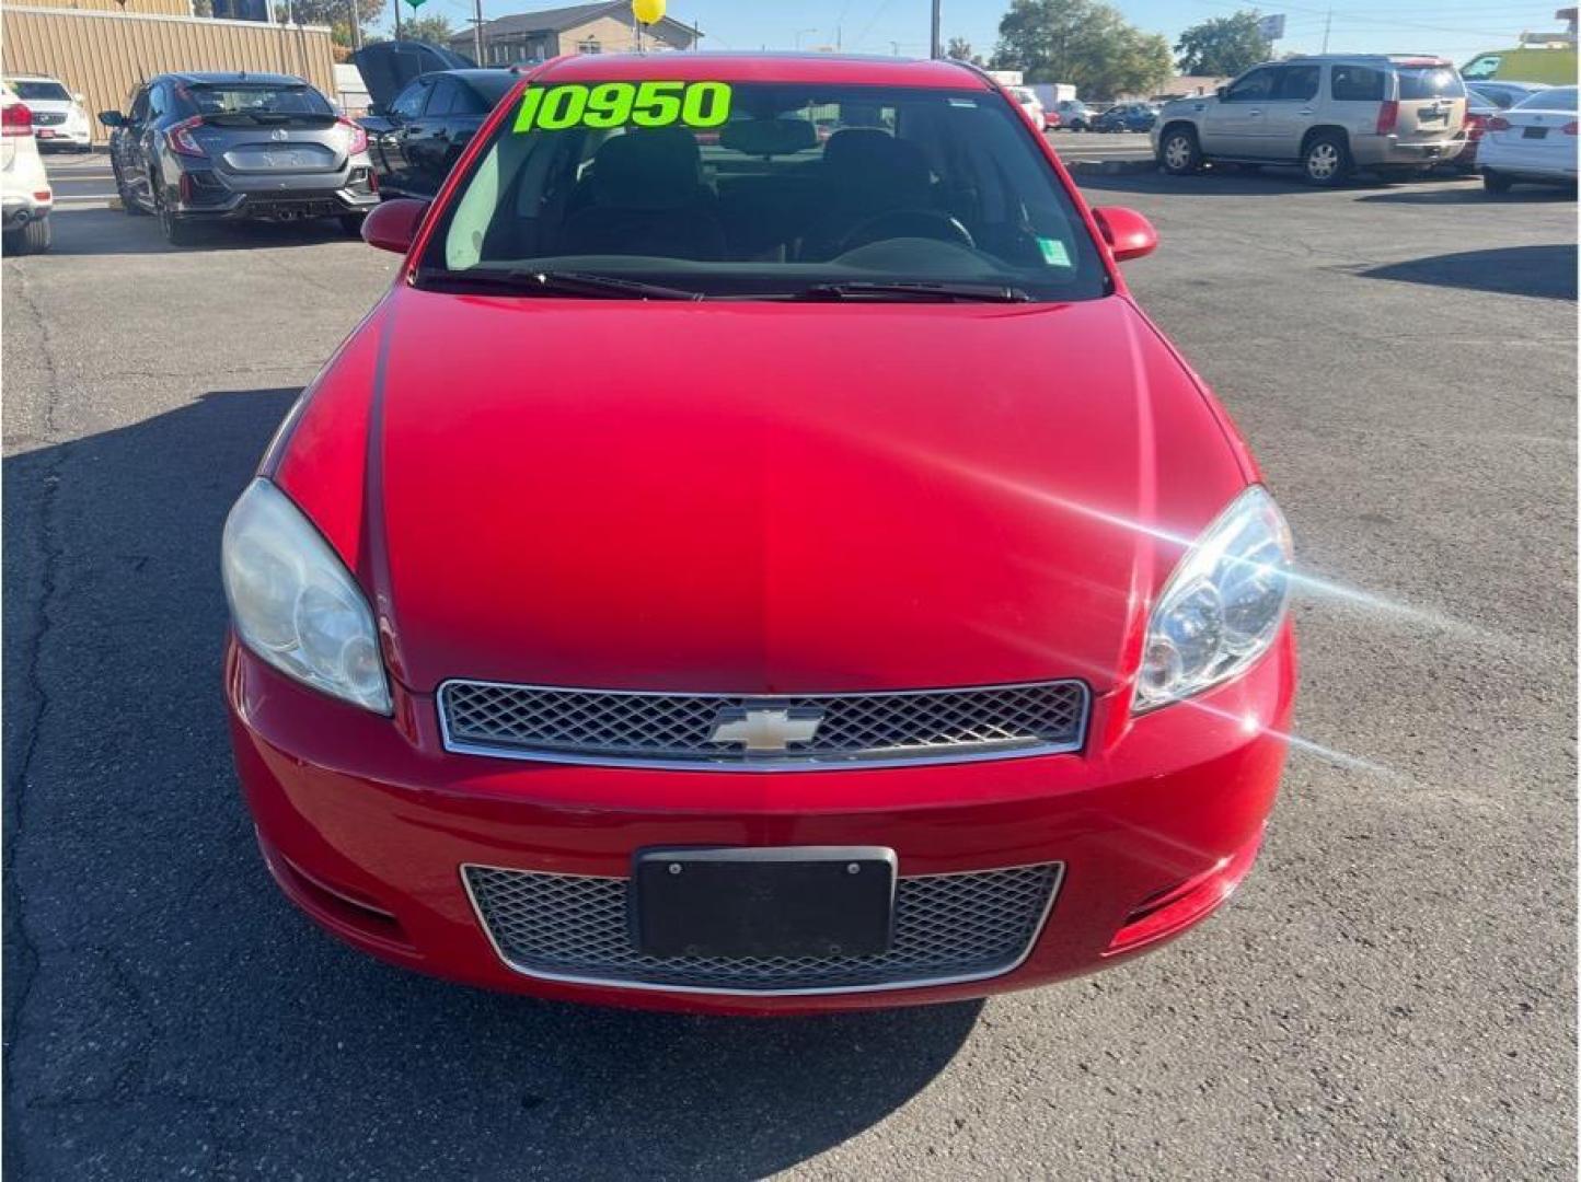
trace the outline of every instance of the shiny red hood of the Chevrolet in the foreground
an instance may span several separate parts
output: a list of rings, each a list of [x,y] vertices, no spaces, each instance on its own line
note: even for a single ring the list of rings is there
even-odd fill
[[[1247,480],[1124,297],[406,288],[266,471],[370,589],[409,687],[741,694],[1104,689],[1179,539]]]

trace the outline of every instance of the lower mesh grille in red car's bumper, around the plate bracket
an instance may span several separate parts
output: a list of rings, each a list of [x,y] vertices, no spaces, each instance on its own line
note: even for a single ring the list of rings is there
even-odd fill
[[[840,992],[998,977],[1042,928],[1062,866],[1017,866],[895,880],[895,928],[879,956],[643,956],[626,879],[465,866],[500,956],[550,980],[708,992]]]

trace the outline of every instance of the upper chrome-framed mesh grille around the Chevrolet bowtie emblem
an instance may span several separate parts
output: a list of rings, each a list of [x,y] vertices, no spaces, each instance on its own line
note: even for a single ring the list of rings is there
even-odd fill
[[[710,736],[721,711],[816,713],[811,740],[748,754]],[[1080,681],[890,694],[640,694],[447,681],[440,719],[451,751],[588,763],[724,768],[912,759],[968,760],[1075,751],[1086,725]]]

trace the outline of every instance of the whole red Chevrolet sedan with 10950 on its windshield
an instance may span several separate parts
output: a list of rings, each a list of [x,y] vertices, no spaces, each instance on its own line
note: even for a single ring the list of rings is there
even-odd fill
[[[411,969],[768,1013],[1113,964],[1251,868],[1290,539],[985,74],[526,74],[225,528],[281,890]]]

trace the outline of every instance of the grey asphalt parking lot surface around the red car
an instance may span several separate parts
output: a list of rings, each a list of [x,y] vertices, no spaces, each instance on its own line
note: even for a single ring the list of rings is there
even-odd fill
[[[299,917],[231,768],[218,534],[395,259],[85,201],[6,259],[9,1176],[1572,1177],[1576,204],[1085,185],[1156,221],[1134,286],[1290,517],[1298,751],[1181,942],[833,1019],[492,996]]]

